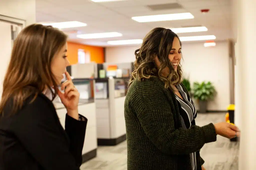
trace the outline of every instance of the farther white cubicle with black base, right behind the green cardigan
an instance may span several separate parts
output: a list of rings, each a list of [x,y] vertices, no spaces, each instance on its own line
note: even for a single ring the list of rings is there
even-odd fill
[[[89,91],[93,91],[91,94],[94,95],[98,145],[116,145],[126,139],[124,100],[132,65],[133,63],[84,63],[67,67],[74,80],[92,78],[95,81]],[[104,78],[98,76],[102,75],[101,71]],[[116,78],[118,76],[122,78]],[[82,86],[80,91],[84,91]],[[88,94],[80,92],[80,96],[84,95]]]

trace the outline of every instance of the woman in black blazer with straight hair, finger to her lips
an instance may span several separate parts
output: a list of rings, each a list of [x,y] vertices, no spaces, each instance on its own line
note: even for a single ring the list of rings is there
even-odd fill
[[[51,26],[29,25],[17,36],[0,102],[1,170],[79,169],[87,119],[78,114],[66,53],[67,35]],[[52,103],[57,94],[67,109],[65,130]]]

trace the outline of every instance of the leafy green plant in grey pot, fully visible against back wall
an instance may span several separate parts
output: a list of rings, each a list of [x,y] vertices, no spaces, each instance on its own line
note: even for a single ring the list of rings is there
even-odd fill
[[[193,96],[199,100],[199,110],[201,113],[205,113],[207,109],[207,101],[212,100],[216,94],[215,87],[211,82],[202,83],[194,82],[193,85]]]

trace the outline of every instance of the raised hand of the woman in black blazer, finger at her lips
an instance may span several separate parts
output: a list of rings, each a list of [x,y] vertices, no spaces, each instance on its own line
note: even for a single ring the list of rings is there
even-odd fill
[[[78,120],[78,102],[80,94],[74,86],[69,73],[66,72],[65,75],[67,77],[67,81],[61,85],[61,90],[64,90],[64,93],[58,90],[58,95],[61,102],[66,107],[68,115]]]

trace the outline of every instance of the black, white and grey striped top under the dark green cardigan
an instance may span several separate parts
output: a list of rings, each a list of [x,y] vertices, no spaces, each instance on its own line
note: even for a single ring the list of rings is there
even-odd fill
[[[184,129],[189,129],[191,125],[195,124],[194,122],[197,116],[196,107],[194,102],[191,100],[191,98],[187,96],[182,86],[179,84],[176,87],[179,90],[179,93],[181,94],[181,96],[183,97],[183,99],[181,99],[175,94],[176,99],[178,101],[178,105],[179,105],[181,125]],[[192,170],[196,170],[197,169],[196,152],[190,153],[190,161],[192,165]]]

